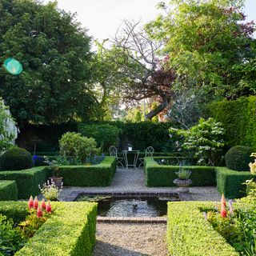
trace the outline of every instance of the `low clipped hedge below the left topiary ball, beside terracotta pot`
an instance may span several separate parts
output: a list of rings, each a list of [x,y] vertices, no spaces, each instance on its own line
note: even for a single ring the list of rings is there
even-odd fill
[[[36,167],[28,170],[0,171],[0,180],[16,181],[18,198],[29,198],[30,195],[40,193],[38,185],[46,182],[47,170],[45,167]]]

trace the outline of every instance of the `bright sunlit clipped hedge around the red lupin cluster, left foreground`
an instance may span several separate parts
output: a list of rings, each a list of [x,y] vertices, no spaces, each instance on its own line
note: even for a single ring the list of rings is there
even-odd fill
[[[54,214],[15,256],[91,256],[95,244],[97,204],[52,202],[52,206]],[[26,216],[26,202],[1,202],[0,214],[11,217],[8,215],[10,207],[13,216]]]

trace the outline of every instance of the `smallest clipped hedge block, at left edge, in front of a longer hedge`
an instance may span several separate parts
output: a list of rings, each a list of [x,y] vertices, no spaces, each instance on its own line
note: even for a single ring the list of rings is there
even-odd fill
[[[0,201],[15,201],[18,189],[15,181],[0,181]]]

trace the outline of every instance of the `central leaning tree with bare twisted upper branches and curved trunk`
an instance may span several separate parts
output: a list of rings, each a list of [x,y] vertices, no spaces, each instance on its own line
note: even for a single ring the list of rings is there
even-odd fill
[[[161,47],[162,42],[151,40],[139,22],[124,21],[110,49],[104,49],[103,62],[99,61],[107,63],[101,65],[101,83],[118,91],[122,102],[130,105],[144,98],[158,101],[146,119],[154,118],[170,104],[176,78],[174,70],[164,68],[166,59],[158,57]]]

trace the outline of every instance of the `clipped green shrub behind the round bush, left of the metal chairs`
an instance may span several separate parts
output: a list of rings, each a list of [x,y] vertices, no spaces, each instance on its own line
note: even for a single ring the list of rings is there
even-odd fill
[[[98,146],[107,152],[110,146],[118,146],[120,129],[110,124],[88,124],[78,126],[83,136],[94,138]]]

